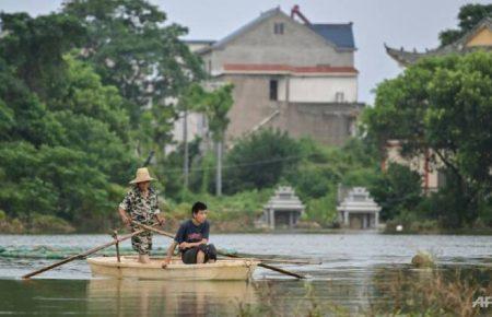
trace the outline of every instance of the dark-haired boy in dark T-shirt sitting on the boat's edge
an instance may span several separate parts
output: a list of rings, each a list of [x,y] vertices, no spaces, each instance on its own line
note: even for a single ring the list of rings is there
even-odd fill
[[[207,204],[197,201],[191,208],[191,219],[183,222],[174,242],[167,249],[167,256],[162,263],[165,268],[173,257],[174,249],[179,246],[181,260],[186,265],[215,262],[216,250],[209,242],[210,224],[207,221]]]

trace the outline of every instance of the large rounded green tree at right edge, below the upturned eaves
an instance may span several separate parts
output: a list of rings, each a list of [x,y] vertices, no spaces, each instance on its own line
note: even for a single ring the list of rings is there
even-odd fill
[[[380,148],[400,140],[402,155],[431,153],[461,192],[454,225],[471,224],[480,199],[490,199],[492,175],[492,54],[425,59],[376,90],[364,121],[367,138]],[[443,214],[445,212],[443,211]]]

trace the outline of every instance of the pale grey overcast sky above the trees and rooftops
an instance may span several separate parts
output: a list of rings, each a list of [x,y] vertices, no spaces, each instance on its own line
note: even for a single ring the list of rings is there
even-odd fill
[[[61,0],[0,0],[0,11],[26,11],[38,15],[57,11]],[[457,27],[457,14],[466,0],[151,0],[168,21],[189,28],[188,39],[220,39],[260,12],[280,5],[289,13],[294,4],[315,23],[353,22],[359,99],[373,103],[372,90],[401,69],[384,49],[384,43],[406,49],[434,48],[438,33]]]

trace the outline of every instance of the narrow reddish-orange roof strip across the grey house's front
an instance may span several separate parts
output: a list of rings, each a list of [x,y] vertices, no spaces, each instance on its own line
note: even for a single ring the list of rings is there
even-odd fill
[[[225,63],[224,71],[293,72],[293,73],[358,73],[353,67],[289,66],[281,63]]]

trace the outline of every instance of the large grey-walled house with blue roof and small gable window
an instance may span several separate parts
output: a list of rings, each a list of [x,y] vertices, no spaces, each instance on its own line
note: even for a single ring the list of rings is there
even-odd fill
[[[218,42],[187,42],[212,81],[235,85],[226,141],[262,128],[325,144],[354,134],[363,104],[352,26],[315,24],[297,7],[291,15],[276,8]]]

